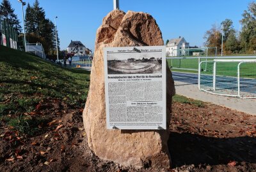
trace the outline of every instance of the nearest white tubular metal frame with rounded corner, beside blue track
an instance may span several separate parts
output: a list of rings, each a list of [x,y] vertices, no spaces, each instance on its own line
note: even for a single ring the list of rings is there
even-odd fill
[[[256,59],[202,61],[198,66],[198,88],[211,94],[256,98]]]

